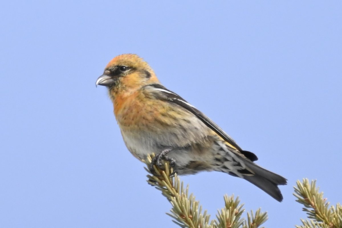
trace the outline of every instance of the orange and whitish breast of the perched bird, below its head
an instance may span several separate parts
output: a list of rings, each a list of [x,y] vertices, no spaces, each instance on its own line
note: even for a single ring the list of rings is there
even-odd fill
[[[139,98],[139,94],[126,98],[120,110],[114,105],[122,137],[134,156],[144,159],[161,148],[189,147],[207,141],[210,129],[193,113],[174,107],[176,104]]]

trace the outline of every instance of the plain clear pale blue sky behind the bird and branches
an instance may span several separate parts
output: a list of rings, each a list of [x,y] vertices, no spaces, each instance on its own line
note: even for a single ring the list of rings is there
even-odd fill
[[[223,173],[182,177],[215,218],[223,195],[305,217],[296,180],[341,202],[340,1],[5,1],[0,9],[0,227],[176,227],[126,149],[95,80],[136,53],[257,163],[288,179],[279,203]]]

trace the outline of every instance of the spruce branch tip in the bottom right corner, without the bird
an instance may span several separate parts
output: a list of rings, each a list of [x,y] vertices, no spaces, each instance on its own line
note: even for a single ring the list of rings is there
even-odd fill
[[[304,205],[303,211],[310,219],[301,219],[303,226],[297,228],[342,228],[342,206],[338,203],[336,207],[329,207],[330,203],[323,198],[323,192],[319,192],[319,187],[316,187],[316,180],[311,184],[308,179],[303,179],[303,183],[297,180],[294,192],[296,201]]]

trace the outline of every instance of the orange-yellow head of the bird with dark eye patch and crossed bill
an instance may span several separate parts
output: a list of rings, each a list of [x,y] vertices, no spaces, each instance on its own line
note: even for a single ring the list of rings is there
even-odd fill
[[[110,91],[137,90],[144,85],[159,83],[153,69],[138,55],[123,54],[113,58],[103,75],[96,80]]]

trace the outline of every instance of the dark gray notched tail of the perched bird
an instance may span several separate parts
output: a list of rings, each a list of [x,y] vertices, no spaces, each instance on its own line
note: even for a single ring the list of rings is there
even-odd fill
[[[278,174],[272,173],[271,171],[265,170],[253,162],[245,162],[245,164],[255,173],[255,175],[246,175],[244,176],[244,179],[248,180],[250,183],[259,187],[268,195],[281,202],[283,198],[278,185],[286,185],[287,179]]]

